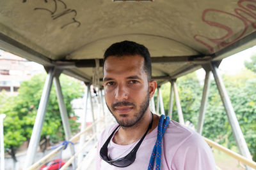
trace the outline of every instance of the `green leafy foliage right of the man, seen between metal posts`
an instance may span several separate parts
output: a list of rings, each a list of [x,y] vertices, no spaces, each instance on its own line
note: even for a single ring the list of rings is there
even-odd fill
[[[241,126],[248,148],[256,160],[256,74],[244,69],[237,75],[224,75],[228,95]],[[177,80],[180,104],[184,120],[197,125],[202,98],[203,85],[200,85],[195,73],[188,74]],[[168,113],[170,83],[161,87],[165,113]],[[172,119],[178,121],[177,109],[173,103]],[[211,80],[209,97],[204,119],[203,136],[232,148],[236,141],[220,99],[214,80]]]

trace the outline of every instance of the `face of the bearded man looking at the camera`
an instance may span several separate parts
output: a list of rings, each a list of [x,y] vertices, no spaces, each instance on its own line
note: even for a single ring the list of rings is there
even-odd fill
[[[143,66],[144,58],[140,55],[109,56],[104,63],[106,104],[123,127],[135,125],[148,110],[152,88]]]

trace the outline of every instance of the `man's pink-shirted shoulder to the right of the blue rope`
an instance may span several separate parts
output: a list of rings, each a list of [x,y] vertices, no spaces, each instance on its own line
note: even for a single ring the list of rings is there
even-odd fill
[[[170,122],[166,132],[169,134],[167,135],[169,140],[173,140],[171,164],[173,169],[186,169],[185,167],[197,170],[215,169],[211,148],[200,134],[174,121]]]

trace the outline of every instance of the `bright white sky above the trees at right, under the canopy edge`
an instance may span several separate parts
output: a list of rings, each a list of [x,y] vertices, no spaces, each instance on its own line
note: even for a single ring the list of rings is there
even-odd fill
[[[231,55],[222,60],[220,64],[220,73],[223,74],[236,74],[244,68],[244,61],[250,61],[250,57],[256,55],[256,45],[243,50],[239,53]],[[204,80],[205,71],[204,69],[198,69],[196,74],[200,80]]]

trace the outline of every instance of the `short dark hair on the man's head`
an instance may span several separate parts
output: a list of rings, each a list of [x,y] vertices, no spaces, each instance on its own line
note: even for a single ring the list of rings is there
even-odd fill
[[[141,55],[144,58],[144,71],[148,81],[151,80],[152,68],[148,48],[133,41],[122,41],[109,46],[104,53],[103,67],[109,56],[123,57],[124,55]]]

